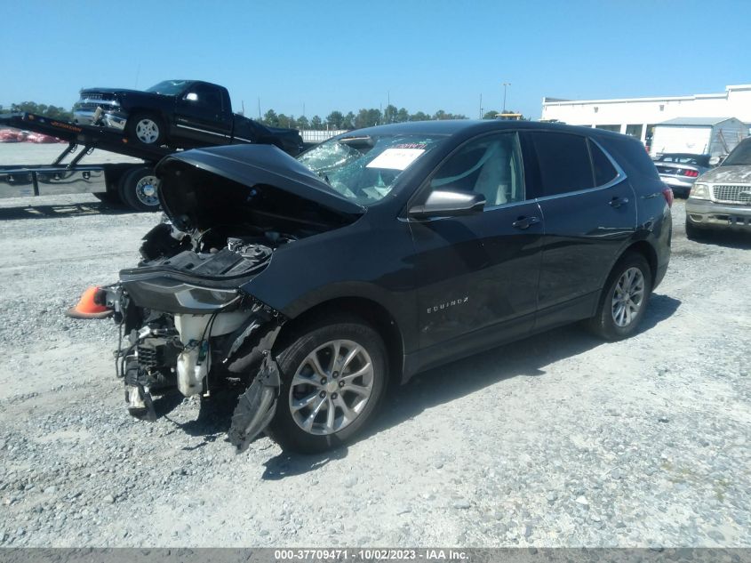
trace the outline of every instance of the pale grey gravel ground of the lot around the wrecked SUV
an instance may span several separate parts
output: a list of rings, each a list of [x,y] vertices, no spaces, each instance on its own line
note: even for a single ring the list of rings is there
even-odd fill
[[[0,219],[0,545],[751,546],[751,238],[686,240],[680,200],[640,334],[568,327],[419,375],[317,456],[234,454],[228,398],[125,412],[112,322],[63,311],[156,214],[76,196]]]

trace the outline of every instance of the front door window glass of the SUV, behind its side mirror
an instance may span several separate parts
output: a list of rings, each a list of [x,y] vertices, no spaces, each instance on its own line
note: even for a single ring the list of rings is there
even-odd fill
[[[524,200],[522,156],[516,133],[486,135],[469,141],[441,165],[431,189],[473,191],[485,207]]]

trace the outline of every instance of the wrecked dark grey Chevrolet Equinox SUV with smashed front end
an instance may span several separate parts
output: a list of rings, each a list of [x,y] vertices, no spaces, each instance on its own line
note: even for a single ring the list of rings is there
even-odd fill
[[[565,125],[438,121],[158,165],[169,221],[101,290],[132,414],[157,389],[247,384],[229,438],[316,452],[391,382],[586,319],[633,334],[670,256],[672,193],[642,145]]]

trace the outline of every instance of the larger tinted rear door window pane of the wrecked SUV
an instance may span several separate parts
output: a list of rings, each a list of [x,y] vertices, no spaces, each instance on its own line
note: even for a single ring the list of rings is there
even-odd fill
[[[587,139],[569,133],[532,133],[540,196],[594,188]]]

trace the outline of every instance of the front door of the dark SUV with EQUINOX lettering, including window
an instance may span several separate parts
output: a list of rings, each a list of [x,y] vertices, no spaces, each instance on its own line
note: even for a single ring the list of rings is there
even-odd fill
[[[416,203],[435,189],[481,193],[486,203],[467,216],[410,220],[420,348],[451,356],[526,334],[537,308],[543,221],[525,194],[518,135],[467,141],[430,175]]]

